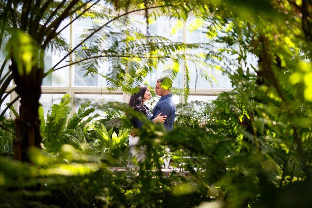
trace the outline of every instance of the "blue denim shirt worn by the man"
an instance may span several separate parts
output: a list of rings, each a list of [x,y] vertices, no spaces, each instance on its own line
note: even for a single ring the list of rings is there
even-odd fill
[[[153,119],[161,113],[161,116],[166,115],[167,120],[163,123],[167,130],[173,129],[173,122],[175,117],[175,104],[172,99],[172,94],[161,96],[158,103],[153,109]]]

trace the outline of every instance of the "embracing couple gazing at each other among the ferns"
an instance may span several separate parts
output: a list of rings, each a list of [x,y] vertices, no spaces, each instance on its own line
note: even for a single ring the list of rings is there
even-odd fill
[[[155,105],[153,109],[153,114],[150,112],[149,108],[144,104],[145,101],[151,99],[151,93],[146,85],[139,86],[139,92],[135,93],[131,96],[129,101],[129,106],[138,112],[142,112],[149,120],[154,123],[163,123],[164,127],[167,130],[173,129],[173,122],[175,117],[175,105],[172,99],[172,94],[170,94],[170,86],[168,89],[164,89],[162,87],[162,82],[166,81],[166,83],[172,83],[171,80],[167,81],[170,78],[161,77],[156,81],[155,91],[156,94],[161,96],[158,103]],[[139,119],[132,119],[132,125],[134,128],[142,128],[142,121]],[[131,157],[135,157],[137,161],[144,160],[144,147],[139,147],[139,149],[135,149],[135,145],[138,143],[139,137],[134,135],[130,135],[129,137],[129,152]],[[169,149],[166,149],[167,152]],[[129,161],[131,159],[129,158]],[[164,159],[165,168],[169,167],[169,158]],[[131,162],[128,162],[128,167],[133,167]]]

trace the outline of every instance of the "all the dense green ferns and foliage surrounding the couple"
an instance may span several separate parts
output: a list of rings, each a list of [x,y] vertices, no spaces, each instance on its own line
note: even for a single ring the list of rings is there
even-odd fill
[[[10,39],[0,73],[1,103],[14,79],[21,107],[15,125],[1,115],[0,206],[312,205],[310,1],[107,1],[100,11],[88,9],[89,2],[1,2],[0,35]],[[211,41],[224,47],[212,50],[209,44],[175,43],[132,31],[134,27],[125,27],[131,20],[124,14],[135,10],[145,12],[147,28],[149,18],[160,15],[179,21],[196,17],[189,30],[206,27]],[[137,163],[136,170],[111,172],[107,167],[124,167],[128,160],[129,115],[146,120],[144,115],[125,104],[110,103],[97,106],[107,117],[90,123],[97,115],[88,117],[95,108],[87,102],[68,118],[65,95],[51,106],[45,120],[37,102],[42,78],[58,70],[43,69],[42,54],[47,46],[69,49],[56,33],[69,17],[102,20],[85,34],[85,40],[96,34],[94,45],[82,47],[82,42],[74,48],[76,60],[69,64],[82,64],[86,73],[97,73],[97,61],[113,62],[116,67],[105,75],[111,89],[135,92],[142,77],[170,59],[172,79],[183,61],[194,62],[199,70],[203,62],[210,63],[230,77],[233,90],[219,94],[212,103],[177,105],[171,132],[146,121],[137,132],[138,145],[146,147],[146,160]],[[120,32],[109,30],[111,20]],[[196,54],[193,49],[207,52]],[[248,53],[258,58],[257,66],[246,65]],[[187,98],[190,69],[186,66],[184,71]],[[161,166],[168,145],[171,166],[177,171],[164,176]]]

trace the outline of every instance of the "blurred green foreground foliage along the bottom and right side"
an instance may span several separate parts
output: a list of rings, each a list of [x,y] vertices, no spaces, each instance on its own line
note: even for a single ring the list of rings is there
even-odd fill
[[[32,150],[32,164],[1,158],[4,207],[312,206],[310,1],[204,2],[209,7],[194,15],[211,22],[208,36],[227,46],[220,53],[237,56],[239,65],[222,60],[235,88],[212,104],[177,108],[172,132],[145,121],[138,145],[146,147],[146,160],[132,172],[107,170],[113,152],[101,149],[98,157],[74,144]],[[247,65],[248,53],[257,66]],[[93,133],[110,135],[98,128]],[[184,172],[165,177],[168,145],[172,166]]]

